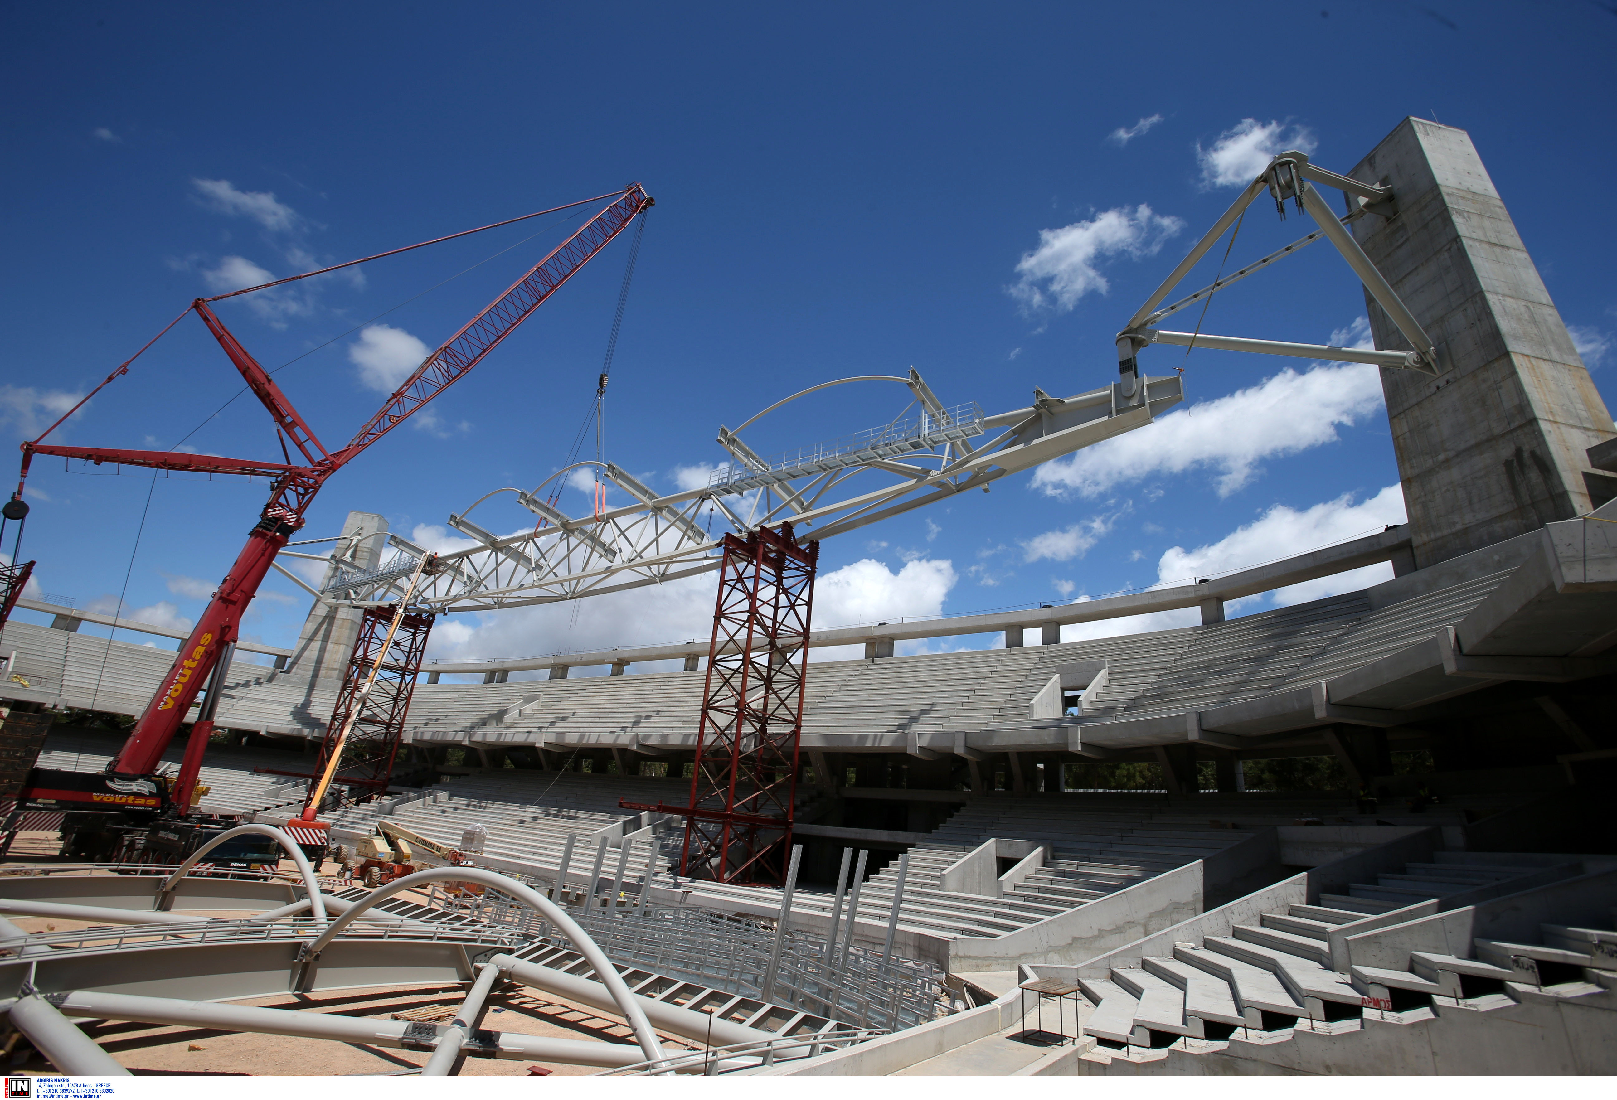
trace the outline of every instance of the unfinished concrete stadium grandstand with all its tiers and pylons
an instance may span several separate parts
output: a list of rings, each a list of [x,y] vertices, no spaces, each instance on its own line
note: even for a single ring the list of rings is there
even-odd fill
[[[1407,526],[1177,589],[817,632],[810,645],[865,655],[810,665],[794,890],[684,878],[682,820],[619,806],[689,793],[705,654],[684,645],[429,665],[401,781],[333,810],[333,841],[354,844],[386,820],[453,848],[482,825],[475,865],[589,911],[637,996],[684,990],[687,1008],[723,1005],[718,1019],[737,1029],[724,1042],[783,1043],[779,1061],[773,1047],[766,1058],[747,1048],[723,1072],[1617,1072],[1617,840],[1604,801],[1617,760],[1612,419],[1502,202],[1476,183],[1486,170],[1463,131],[1407,120],[1352,175],[1391,180],[1402,222],[1383,209],[1352,231],[1446,362],[1442,385],[1383,372]],[[1492,218],[1492,236],[1455,210]],[[1434,281],[1433,265],[1459,272],[1467,293]],[[1402,348],[1371,312],[1378,346]],[[1431,417],[1463,419],[1450,404],[1467,391],[1505,383],[1520,398],[1514,424],[1467,419],[1465,448],[1421,434]],[[1549,391],[1554,416],[1541,411]],[[1538,482],[1518,476],[1523,446],[1546,456]],[[348,527],[378,522],[354,513]],[[1394,579],[1226,613],[1376,561]],[[1066,624],[1187,607],[1201,624],[1061,641]],[[3,694],[76,715],[40,764],[105,764],[118,733],[79,720],[137,715],[171,652],[82,634],[97,618],[71,607],[19,608],[0,636],[15,654]],[[234,666],[204,810],[268,827],[296,815],[306,781],[293,773],[312,762],[340,686],[315,642],[340,636],[344,615],[317,602],[298,647],[264,649],[273,668]],[[1028,645],[1033,629],[1041,644]],[[1003,647],[894,655],[897,641],[999,632]],[[666,660],[684,670],[632,671]],[[611,675],[569,676],[587,666]],[[548,678],[511,679],[537,671]],[[482,683],[445,679],[469,675]],[[1334,778],[1256,781],[1295,760]],[[86,904],[92,890],[79,890],[60,896]],[[13,893],[0,888],[11,904],[0,911],[44,912]],[[265,888],[259,901],[270,899]],[[532,929],[508,909],[438,895],[390,904],[395,920],[453,927],[467,953],[590,972],[555,938],[524,956]],[[627,922],[653,917],[681,929],[682,954],[634,940]],[[776,937],[758,964],[768,975],[716,961],[702,974],[694,959],[718,951],[711,929],[724,920],[737,943],[765,945],[755,961]],[[433,980],[472,980],[433,966]],[[781,966],[792,977],[776,992]],[[909,969],[886,1016],[842,1000],[854,975],[894,967]],[[547,980],[613,1005],[600,988]],[[1038,1013],[1054,1029],[1030,1026]],[[692,1037],[689,1019],[666,1019]],[[1522,1024],[1543,1042],[1514,1039]],[[644,1068],[629,1050],[611,1058],[589,1064]]]

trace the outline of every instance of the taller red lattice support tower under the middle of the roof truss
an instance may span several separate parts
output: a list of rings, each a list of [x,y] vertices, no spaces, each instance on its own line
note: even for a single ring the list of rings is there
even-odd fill
[[[797,741],[820,544],[792,526],[724,535],[681,874],[779,880],[792,836]]]

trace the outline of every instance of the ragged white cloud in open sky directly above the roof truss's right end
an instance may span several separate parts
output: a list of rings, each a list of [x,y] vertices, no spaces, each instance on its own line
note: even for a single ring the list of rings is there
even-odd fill
[[[1124,254],[1130,259],[1155,256],[1163,243],[1185,228],[1180,218],[1158,215],[1146,204],[1114,207],[1088,222],[1059,230],[1040,230],[1038,248],[1015,265],[1020,281],[1011,296],[1024,311],[1053,307],[1067,311],[1090,291],[1104,294],[1111,283],[1096,264]]]

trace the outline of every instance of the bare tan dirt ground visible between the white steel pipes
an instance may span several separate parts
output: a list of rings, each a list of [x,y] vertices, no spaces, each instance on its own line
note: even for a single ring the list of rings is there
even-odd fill
[[[47,862],[40,859],[55,854],[55,833],[23,833],[11,848],[8,865],[19,862]],[[39,851],[31,851],[37,848]],[[330,869],[330,864],[328,864]],[[0,865],[0,874],[6,870]],[[296,878],[289,861],[281,870]],[[243,917],[246,912],[197,911],[197,917]],[[63,917],[10,917],[24,932],[73,932],[99,925],[91,920]],[[322,993],[281,993],[233,1001],[260,1008],[288,1008],[309,1013],[336,1013],[343,1016],[391,1019],[395,1013],[411,1013],[411,1019],[448,1022],[454,1008],[466,996],[464,985],[399,985],[388,988],[331,990]],[[435,1018],[432,1009],[440,1009]],[[210,1029],[162,1027],[134,1022],[79,1021],[84,1032],[120,1064],[136,1074],[158,1076],[385,1076],[417,1069],[427,1063],[427,1053],[391,1050],[364,1043],[338,1043],[319,1039],[294,1039],[286,1035],[236,1034]],[[616,1019],[605,1018],[592,1008],[529,990],[517,984],[505,984],[488,998],[488,1011],[482,1027],[488,1030],[517,1032],[555,1039],[582,1039],[611,1043],[634,1043],[631,1030]],[[6,1035],[6,1039],[11,1039]],[[660,1035],[666,1050],[692,1050],[692,1043],[673,1035]],[[55,1074],[57,1071],[16,1042],[10,1051],[13,1074]],[[551,1063],[505,1061],[495,1058],[467,1058],[459,1071],[462,1077],[521,1077],[530,1064],[538,1064],[559,1076],[595,1072],[593,1066],[566,1066]]]

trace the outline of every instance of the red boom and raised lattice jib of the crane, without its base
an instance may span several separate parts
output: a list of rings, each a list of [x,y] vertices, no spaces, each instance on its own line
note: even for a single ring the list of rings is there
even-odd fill
[[[136,721],[128,742],[112,764],[115,775],[150,775],[181,723],[197,692],[207,681],[220,652],[236,641],[241,616],[259,590],[270,563],[294,531],[302,527],[304,513],[314,501],[320,485],[353,461],[367,446],[398,427],[412,412],[443,393],[482,361],[501,340],[521,325],[547,298],[566,283],[579,269],[595,257],[614,236],[653,201],[639,183],[621,192],[572,236],[563,241],[545,259],[535,264],[522,278],[513,283],[500,298],[482,309],[454,336],[416,367],[416,372],[393,391],[393,396],[336,451],[327,451],[314,430],[304,422],[293,403],[281,393],[270,374],[243,348],[225,324],[209,309],[209,301],[197,299],[191,309],[218,340],[225,354],[246,379],[275,421],[280,437],[304,458],[302,466],[293,463],[260,463],[254,459],[218,458],[213,455],[184,455],[173,451],[131,451],[100,446],[40,445],[39,440],[23,443],[23,479],[34,455],[79,458],[91,463],[118,463],[123,466],[150,466],[155,469],[207,471],[213,474],[259,474],[273,477],[270,500],[259,522],[247,534],[247,545],[236,556],[225,581],[213,594],[207,610],[197,620],[191,637],[179,647],[173,666],[163,676],[157,694]],[[446,238],[440,238],[446,239]],[[403,251],[403,249],[399,249]],[[386,252],[385,256],[390,256]],[[357,260],[356,260],[357,262]],[[346,267],[346,265],[343,265]],[[327,269],[331,270],[331,269]],[[281,280],[286,281],[286,280]],[[238,291],[239,293],[239,291]],[[230,298],[222,294],[220,298]],[[188,311],[189,312],[189,311]],[[181,314],[184,315],[184,314]],[[167,332],[167,330],[165,330]],[[150,346],[150,345],[147,345]],[[120,367],[107,380],[123,374]],[[102,383],[105,385],[105,383]],[[86,398],[87,400],[87,398]],[[63,417],[66,419],[66,417]],[[58,421],[60,424],[60,421]],[[55,425],[52,425],[55,427]],[[49,434],[49,430],[47,430]],[[40,437],[44,438],[44,435]],[[21,485],[18,485],[21,495]]]

